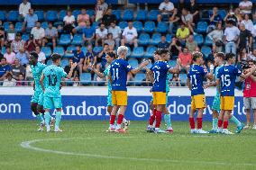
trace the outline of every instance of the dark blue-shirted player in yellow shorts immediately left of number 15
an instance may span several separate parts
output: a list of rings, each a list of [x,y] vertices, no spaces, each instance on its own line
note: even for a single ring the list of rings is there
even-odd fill
[[[187,86],[191,90],[191,110],[189,113],[189,123],[191,133],[208,133],[202,130],[203,113],[206,108],[206,96],[203,86],[205,78],[213,78],[214,66],[211,66],[210,73],[207,73],[206,67],[200,66],[203,60],[203,54],[201,52],[193,53],[193,64],[188,70],[187,74]],[[195,129],[194,115],[197,113],[197,130]]]

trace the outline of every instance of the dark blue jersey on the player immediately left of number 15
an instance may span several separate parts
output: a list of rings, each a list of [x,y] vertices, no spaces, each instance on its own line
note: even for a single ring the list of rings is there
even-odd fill
[[[192,65],[188,71],[187,78],[191,84],[191,96],[197,94],[205,94],[203,82],[207,74],[207,70],[199,65]]]

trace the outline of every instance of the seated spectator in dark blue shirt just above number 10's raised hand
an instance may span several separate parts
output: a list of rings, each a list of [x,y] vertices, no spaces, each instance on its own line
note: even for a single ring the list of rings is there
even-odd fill
[[[83,64],[84,64],[84,58],[85,58],[85,54],[81,48],[82,48],[81,45],[77,45],[75,50],[67,50],[68,53],[72,53],[74,55],[73,63],[77,63],[79,76],[82,75],[83,73]]]

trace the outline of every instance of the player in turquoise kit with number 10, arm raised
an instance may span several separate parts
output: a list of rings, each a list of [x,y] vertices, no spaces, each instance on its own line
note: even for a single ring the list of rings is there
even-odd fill
[[[50,109],[56,109],[56,121],[55,121],[55,132],[61,132],[59,130],[59,122],[61,119],[61,95],[60,95],[60,82],[62,78],[70,78],[73,74],[73,70],[77,67],[77,63],[71,65],[69,75],[60,66],[60,55],[52,54],[51,59],[53,64],[43,69],[40,83],[41,88],[44,92],[43,108],[44,119],[46,125],[46,131],[50,131]]]

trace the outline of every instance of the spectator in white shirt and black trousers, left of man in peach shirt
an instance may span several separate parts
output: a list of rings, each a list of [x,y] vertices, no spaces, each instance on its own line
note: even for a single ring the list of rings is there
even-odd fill
[[[73,32],[72,30],[75,28],[75,16],[72,15],[72,11],[68,10],[67,15],[63,18],[64,26],[63,31],[66,31],[70,34],[71,39],[73,39]]]

